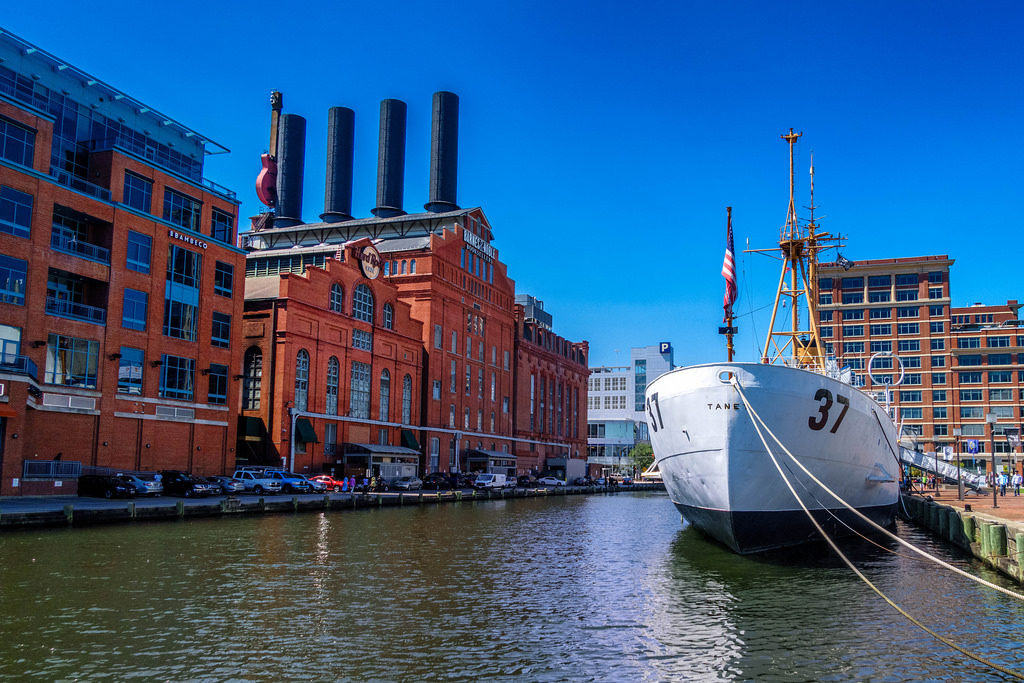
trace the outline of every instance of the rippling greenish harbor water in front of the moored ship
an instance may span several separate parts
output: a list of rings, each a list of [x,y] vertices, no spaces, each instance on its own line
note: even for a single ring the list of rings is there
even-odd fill
[[[1024,603],[845,547],[925,623],[1024,669]],[[826,550],[732,555],[662,494],[13,532],[0,556],[4,679],[1005,680]]]

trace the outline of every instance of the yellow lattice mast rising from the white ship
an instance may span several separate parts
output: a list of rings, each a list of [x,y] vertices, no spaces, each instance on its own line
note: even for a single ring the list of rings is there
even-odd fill
[[[797,219],[797,204],[795,198],[795,174],[793,148],[802,133],[790,129],[788,134],[780,137],[790,144],[790,206],[786,210],[785,225],[779,231],[778,248],[782,254],[782,272],[778,279],[778,289],[775,292],[775,304],[771,312],[771,325],[768,338],[765,340],[765,351],[761,362],[775,364],[781,360],[788,366],[823,371],[824,349],[818,337],[817,311],[817,264],[818,251],[827,246],[823,243],[837,242],[826,232],[819,232],[814,223],[814,169],[811,162],[811,220],[805,227],[800,226]],[[786,278],[788,274],[788,279]],[[783,298],[784,297],[784,298]],[[807,306],[808,325],[806,329],[800,323],[800,299]],[[791,327],[788,330],[775,330],[779,305],[790,306]]]

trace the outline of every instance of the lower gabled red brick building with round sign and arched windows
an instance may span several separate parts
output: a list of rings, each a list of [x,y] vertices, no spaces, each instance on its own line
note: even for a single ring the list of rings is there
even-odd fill
[[[240,464],[339,476],[381,465],[398,476],[399,463],[419,465],[412,426],[423,326],[386,279],[367,276],[360,256],[370,245],[346,244],[302,273],[246,280]],[[252,258],[265,264],[275,255]],[[294,451],[290,409],[303,412]]]

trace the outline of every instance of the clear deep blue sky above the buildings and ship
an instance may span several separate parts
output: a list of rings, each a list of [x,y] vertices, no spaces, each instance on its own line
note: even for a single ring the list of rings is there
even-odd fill
[[[815,160],[851,259],[948,254],[953,305],[1024,298],[1024,6],[862,2],[57,0],[2,26],[230,148],[206,175],[258,208],[270,90],[308,122],[303,218],[323,211],[326,120],[355,111],[353,214],[376,199],[380,100],[409,105],[407,211],[427,199],[430,97],[461,98],[458,201],[481,206],[517,291],[591,365],[671,341],[721,358],[725,207],[736,248],[784,222]],[[800,212],[806,215],[805,211]],[[247,220],[243,218],[243,224]],[[778,271],[738,256],[737,356]],[[751,313],[751,311],[756,311]],[[616,351],[617,349],[617,351]]]

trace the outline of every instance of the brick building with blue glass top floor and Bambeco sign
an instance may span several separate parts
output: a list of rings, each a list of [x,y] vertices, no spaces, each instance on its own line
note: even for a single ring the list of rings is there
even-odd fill
[[[0,494],[230,468],[245,254],[227,152],[0,34]]]

